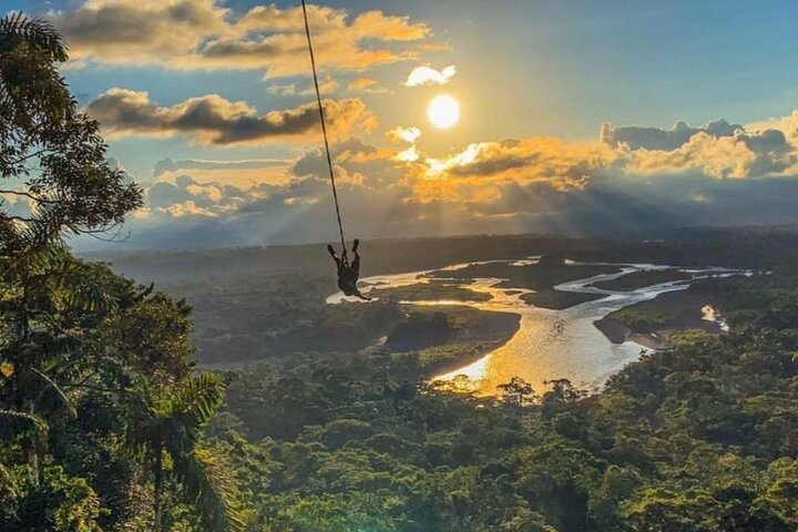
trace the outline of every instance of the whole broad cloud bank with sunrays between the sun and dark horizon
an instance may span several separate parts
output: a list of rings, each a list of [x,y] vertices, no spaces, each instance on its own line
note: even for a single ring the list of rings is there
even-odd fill
[[[612,129],[637,147],[610,140],[605,126],[593,142],[531,136],[444,155],[428,153],[416,129],[395,127],[386,134],[396,145],[346,139],[332,145],[332,162],[345,224],[360,237],[798,223],[795,119]],[[259,175],[231,181],[239,172]],[[264,180],[269,172],[277,178]],[[165,160],[155,174],[132,222],[133,246],[336,237],[321,150],[284,161]]]

